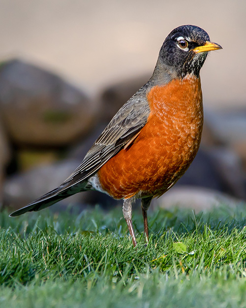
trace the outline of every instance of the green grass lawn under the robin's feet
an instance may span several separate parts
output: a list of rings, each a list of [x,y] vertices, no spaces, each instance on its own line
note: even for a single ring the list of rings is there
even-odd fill
[[[76,210],[76,209],[74,209]],[[0,215],[0,307],[246,307],[246,205]]]

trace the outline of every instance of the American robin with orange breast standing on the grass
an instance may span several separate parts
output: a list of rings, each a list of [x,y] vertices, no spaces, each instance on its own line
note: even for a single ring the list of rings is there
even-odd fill
[[[184,174],[201,140],[203,105],[200,69],[208,51],[222,47],[201,28],[185,25],[165,39],[150,80],[116,113],[81,165],[56,189],[13,212],[38,211],[87,190],[123,199],[133,245],[132,203],[147,210]]]

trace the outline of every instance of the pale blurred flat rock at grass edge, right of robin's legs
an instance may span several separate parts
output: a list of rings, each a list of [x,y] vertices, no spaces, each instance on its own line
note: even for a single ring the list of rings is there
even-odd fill
[[[214,206],[235,206],[239,203],[241,203],[240,200],[213,189],[194,186],[176,186],[171,188],[160,198],[155,199],[153,206],[164,208],[178,206],[201,211],[210,209]]]

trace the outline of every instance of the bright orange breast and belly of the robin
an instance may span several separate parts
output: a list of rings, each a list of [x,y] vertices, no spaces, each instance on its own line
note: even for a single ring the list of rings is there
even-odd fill
[[[162,195],[184,174],[200,144],[200,79],[154,86],[147,99],[151,113],[140,134],[98,171],[102,188],[116,199]]]

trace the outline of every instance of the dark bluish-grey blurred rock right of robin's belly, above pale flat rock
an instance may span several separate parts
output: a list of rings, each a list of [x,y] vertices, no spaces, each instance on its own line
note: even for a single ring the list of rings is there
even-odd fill
[[[245,173],[240,158],[225,147],[200,147],[178,185],[200,186],[246,199]]]

